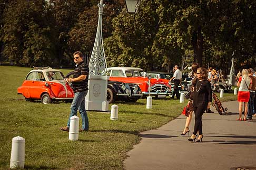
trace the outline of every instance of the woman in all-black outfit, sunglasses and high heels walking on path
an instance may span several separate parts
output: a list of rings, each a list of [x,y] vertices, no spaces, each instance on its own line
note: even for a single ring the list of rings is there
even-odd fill
[[[189,138],[189,141],[195,142],[195,135],[199,132],[196,142],[202,142],[203,139],[203,123],[202,115],[208,105],[208,102],[212,102],[212,89],[211,83],[207,80],[208,71],[205,68],[198,68],[196,71],[198,82],[195,85],[193,93],[193,107],[195,113],[195,125],[194,132]]]

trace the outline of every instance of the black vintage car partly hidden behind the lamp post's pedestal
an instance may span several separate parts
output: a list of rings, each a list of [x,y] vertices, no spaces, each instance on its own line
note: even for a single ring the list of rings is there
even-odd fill
[[[65,78],[73,77],[74,71],[67,73]],[[72,83],[69,83],[72,87]],[[141,89],[137,84],[119,81],[107,81],[107,98],[109,103],[115,101],[136,102],[142,96]]]

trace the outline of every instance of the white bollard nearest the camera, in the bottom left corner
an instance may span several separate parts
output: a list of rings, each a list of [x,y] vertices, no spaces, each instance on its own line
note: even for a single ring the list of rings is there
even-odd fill
[[[24,169],[25,139],[21,136],[13,137],[10,168]]]

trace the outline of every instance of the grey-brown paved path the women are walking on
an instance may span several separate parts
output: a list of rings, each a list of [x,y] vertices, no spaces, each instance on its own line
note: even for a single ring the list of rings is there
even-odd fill
[[[204,113],[203,142],[188,141],[181,136],[185,116],[141,133],[141,143],[134,146],[124,161],[125,169],[256,169],[256,118],[236,121],[238,102],[223,103],[227,115]],[[215,110],[211,108],[211,110]],[[194,119],[190,125],[190,135]]]

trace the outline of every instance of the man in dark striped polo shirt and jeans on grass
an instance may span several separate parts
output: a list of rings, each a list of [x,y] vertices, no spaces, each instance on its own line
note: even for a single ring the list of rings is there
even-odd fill
[[[88,74],[89,68],[83,63],[83,54],[80,51],[74,52],[74,61],[76,63],[75,74],[73,78],[65,79],[65,82],[72,82],[73,91],[75,93],[75,97],[71,104],[71,112],[70,117],[67,121],[67,126],[61,127],[63,131],[70,131],[70,118],[73,115],[77,115],[77,110],[81,114],[82,117],[82,129],[79,131],[88,131],[89,130],[89,121],[88,116],[85,110],[85,95],[88,92]]]

